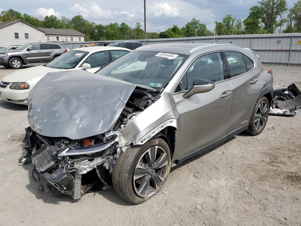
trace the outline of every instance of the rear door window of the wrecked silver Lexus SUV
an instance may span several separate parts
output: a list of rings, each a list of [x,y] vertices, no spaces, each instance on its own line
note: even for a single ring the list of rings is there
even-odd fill
[[[242,53],[225,52],[225,55],[229,64],[231,77],[247,72],[247,67]]]

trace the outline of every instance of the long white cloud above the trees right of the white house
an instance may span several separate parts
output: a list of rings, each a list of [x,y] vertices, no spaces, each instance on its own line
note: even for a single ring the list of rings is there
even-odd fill
[[[97,2],[89,2],[87,4],[75,4],[70,6],[70,11],[79,13],[83,17],[92,18],[92,19],[102,19],[102,20],[110,20],[110,19],[118,19],[119,17],[132,18],[135,15],[130,14],[129,12],[123,11],[111,11],[110,9],[100,8]]]

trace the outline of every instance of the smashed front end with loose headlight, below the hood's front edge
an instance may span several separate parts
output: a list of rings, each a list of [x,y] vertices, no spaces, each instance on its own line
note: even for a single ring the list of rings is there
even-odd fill
[[[25,164],[26,158],[31,157],[34,172],[39,178],[40,175],[45,177],[57,189],[56,192],[80,199],[89,190],[111,185],[113,164],[120,151],[123,151],[117,147],[116,139],[115,133],[107,137],[98,134],[79,140],[45,137],[28,127],[23,140],[27,155],[20,159],[19,164]]]

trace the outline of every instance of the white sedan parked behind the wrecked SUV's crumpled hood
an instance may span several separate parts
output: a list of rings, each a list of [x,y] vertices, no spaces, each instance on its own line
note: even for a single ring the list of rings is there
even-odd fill
[[[27,105],[30,90],[47,73],[66,70],[85,70],[94,73],[129,51],[131,50],[126,48],[107,46],[72,49],[49,64],[5,75],[0,80],[0,98],[8,102]]]

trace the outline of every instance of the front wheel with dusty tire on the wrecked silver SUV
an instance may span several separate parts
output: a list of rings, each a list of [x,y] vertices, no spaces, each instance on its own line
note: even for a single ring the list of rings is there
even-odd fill
[[[114,189],[129,203],[145,202],[162,189],[170,166],[169,146],[163,139],[155,138],[144,145],[132,146],[113,166]]]

